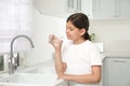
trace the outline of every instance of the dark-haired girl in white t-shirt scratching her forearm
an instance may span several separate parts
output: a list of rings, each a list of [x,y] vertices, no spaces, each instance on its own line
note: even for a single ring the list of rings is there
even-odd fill
[[[75,13],[66,20],[66,37],[63,42],[50,34],[55,49],[55,69],[58,78],[69,81],[68,86],[95,86],[101,80],[100,52],[90,41],[89,19],[83,13]]]

